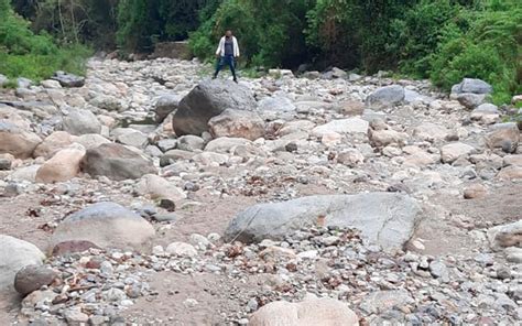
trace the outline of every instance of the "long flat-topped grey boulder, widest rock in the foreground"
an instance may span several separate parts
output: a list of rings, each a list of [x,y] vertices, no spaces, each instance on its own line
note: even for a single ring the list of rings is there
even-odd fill
[[[283,239],[303,227],[319,224],[357,228],[368,243],[395,250],[413,235],[420,211],[414,199],[401,194],[309,196],[259,204],[239,213],[228,225],[226,239]]]

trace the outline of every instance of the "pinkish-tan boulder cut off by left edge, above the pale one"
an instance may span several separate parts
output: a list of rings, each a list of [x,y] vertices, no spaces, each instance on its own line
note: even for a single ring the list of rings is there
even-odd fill
[[[29,159],[41,142],[42,139],[35,133],[0,120],[0,154],[11,154],[17,159]]]

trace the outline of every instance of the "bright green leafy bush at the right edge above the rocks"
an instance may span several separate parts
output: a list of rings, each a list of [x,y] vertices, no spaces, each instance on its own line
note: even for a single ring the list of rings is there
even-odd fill
[[[522,9],[463,11],[465,28],[448,23],[433,55],[431,78],[448,90],[464,77],[480,78],[493,86],[493,101],[505,104],[522,91]]]

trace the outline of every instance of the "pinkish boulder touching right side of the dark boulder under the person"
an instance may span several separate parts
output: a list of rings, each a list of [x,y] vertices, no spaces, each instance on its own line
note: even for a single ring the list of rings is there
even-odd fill
[[[236,137],[257,140],[264,135],[264,121],[257,112],[227,109],[208,121],[214,138]]]

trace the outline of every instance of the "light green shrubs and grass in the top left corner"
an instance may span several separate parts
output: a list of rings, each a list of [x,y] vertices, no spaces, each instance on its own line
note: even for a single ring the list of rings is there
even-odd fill
[[[48,34],[34,34],[29,23],[14,14],[9,1],[0,0],[0,74],[36,80],[58,69],[81,74],[88,55],[81,45],[61,47]]]

